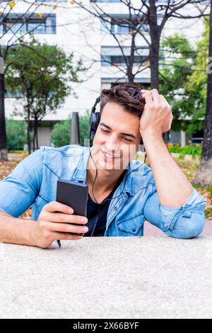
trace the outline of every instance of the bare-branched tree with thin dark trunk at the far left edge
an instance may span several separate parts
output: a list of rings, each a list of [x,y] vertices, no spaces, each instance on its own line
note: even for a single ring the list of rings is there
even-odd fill
[[[24,2],[24,13],[16,13],[17,2]],[[57,8],[55,5],[48,6],[48,13],[39,13],[42,3],[37,1],[1,1],[0,8],[0,61],[6,62],[4,71],[0,72],[0,160],[7,160],[7,145],[6,145],[6,120],[5,120],[5,75],[11,63],[7,61],[8,52],[11,48],[20,44],[25,35],[33,33],[44,19],[52,14],[52,11]],[[46,7],[47,8],[47,5]],[[37,25],[29,30],[24,27],[31,18],[40,18]],[[9,34],[8,34],[9,33]],[[13,60],[14,61],[14,60]]]

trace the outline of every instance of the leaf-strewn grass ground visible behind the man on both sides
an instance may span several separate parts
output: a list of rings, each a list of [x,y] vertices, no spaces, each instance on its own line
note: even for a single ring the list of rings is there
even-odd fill
[[[15,167],[16,165],[27,156],[27,152],[11,152],[9,153],[9,162],[0,162],[0,180],[4,179]],[[192,160],[185,160],[185,159],[179,159],[175,158],[175,161],[179,165],[179,167],[182,169],[184,174],[186,174],[187,179],[192,182],[192,185],[196,190],[206,198],[206,218],[212,220],[212,185],[206,186],[202,188],[201,186],[197,186],[193,183],[194,177],[196,172],[198,171],[199,167],[199,160],[192,159]],[[31,210],[29,209],[27,212],[23,214],[24,218],[30,218]]]

